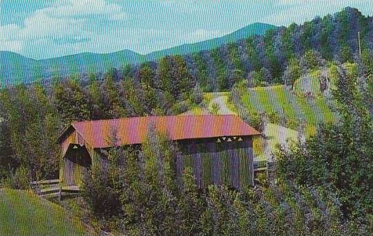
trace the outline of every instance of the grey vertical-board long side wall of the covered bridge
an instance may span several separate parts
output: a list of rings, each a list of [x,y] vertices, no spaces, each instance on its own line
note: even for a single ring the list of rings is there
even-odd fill
[[[207,157],[210,158],[210,167],[206,166],[206,161],[202,163],[202,158]],[[242,189],[245,184],[254,185],[254,155],[250,147],[203,154],[180,154],[177,157],[176,163],[179,178],[186,167],[184,163],[186,158],[191,158],[193,162],[192,167],[195,183],[199,188],[207,188],[210,184],[222,185],[225,181],[227,181],[225,184],[236,189]],[[222,168],[224,161],[227,161],[228,170],[223,170]],[[204,170],[211,170],[211,172],[206,173]],[[211,176],[211,178],[206,179],[204,176]],[[209,183],[210,179],[211,183]],[[208,183],[206,183],[207,180]]]

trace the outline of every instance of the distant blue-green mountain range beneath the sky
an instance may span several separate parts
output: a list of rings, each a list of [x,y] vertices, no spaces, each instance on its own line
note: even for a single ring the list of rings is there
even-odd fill
[[[262,23],[250,24],[229,35],[193,44],[182,44],[146,55],[123,50],[115,53],[79,53],[34,60],[10,51],[0,51],[1,87],[48,79],[54,75],[66,77],[74,73],[104,72],[111,67],[118,68],[124,64],[155,61],[166,55],[188,55],[199,51],[211,50],[218,48],[222,44],[233,43],[251,35],[264,35],[267,30],[272,28],[276,28],[276,26]]]

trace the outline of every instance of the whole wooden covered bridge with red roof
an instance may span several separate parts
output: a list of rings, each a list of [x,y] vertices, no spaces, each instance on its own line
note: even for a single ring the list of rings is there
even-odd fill
[[[107,165],[102,152],[113,146],[140,145],[149,126],[168,134],[180,148],[176,174],[190,166],[200,188],[209,184],[242,188],[254,185],[252,137],[260,133],[238,116],[144,116],[73,122],[59,137],[59,179],[63,186],[80,185],[93,162]]]

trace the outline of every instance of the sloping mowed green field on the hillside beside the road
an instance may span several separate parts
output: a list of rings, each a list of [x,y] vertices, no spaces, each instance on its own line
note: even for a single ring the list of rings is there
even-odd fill
[[[283,85],[247,89],[247,93],[242,94],[242,102],[249,111],[276,114],[278,117],[305,122],[307,131],[321,122],[336,121],[336,114],[329,108],[329,100],[321,96],[302,98]]]

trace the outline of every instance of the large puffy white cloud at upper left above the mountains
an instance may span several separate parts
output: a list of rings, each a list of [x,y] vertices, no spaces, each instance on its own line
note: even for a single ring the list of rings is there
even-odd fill
[[[103,26],[108,34],[106,41],[109,41],[110,46],[113,43],[110,41],[115,39],[115,35],[111,35],[113,31],[108,24],[112,24],[115,28],[115,24],[122,24],[126,20],[128,15],[120,6],[113,3],[104,0],[69,0],[62,5],[33,12],[23,22],[23,26],[17,24],[0,26],[0,50],[15,51],[37,59],[45,57],[45,54],[47,57],[55,57],[61,53],[70,54],[70,49],[75,52],[83,48],[93,51],[95,45],[75,42],[79,42],[79,39],[97,42],[97,35],[98,37],[100,35],[97,29],[99,30],[99,24],[105,21]],[[57,45],[56,40],[60,39],[74,40],[67,40],[65,44]],[[50,52],[45,53],[46,48],[50,48]]]

